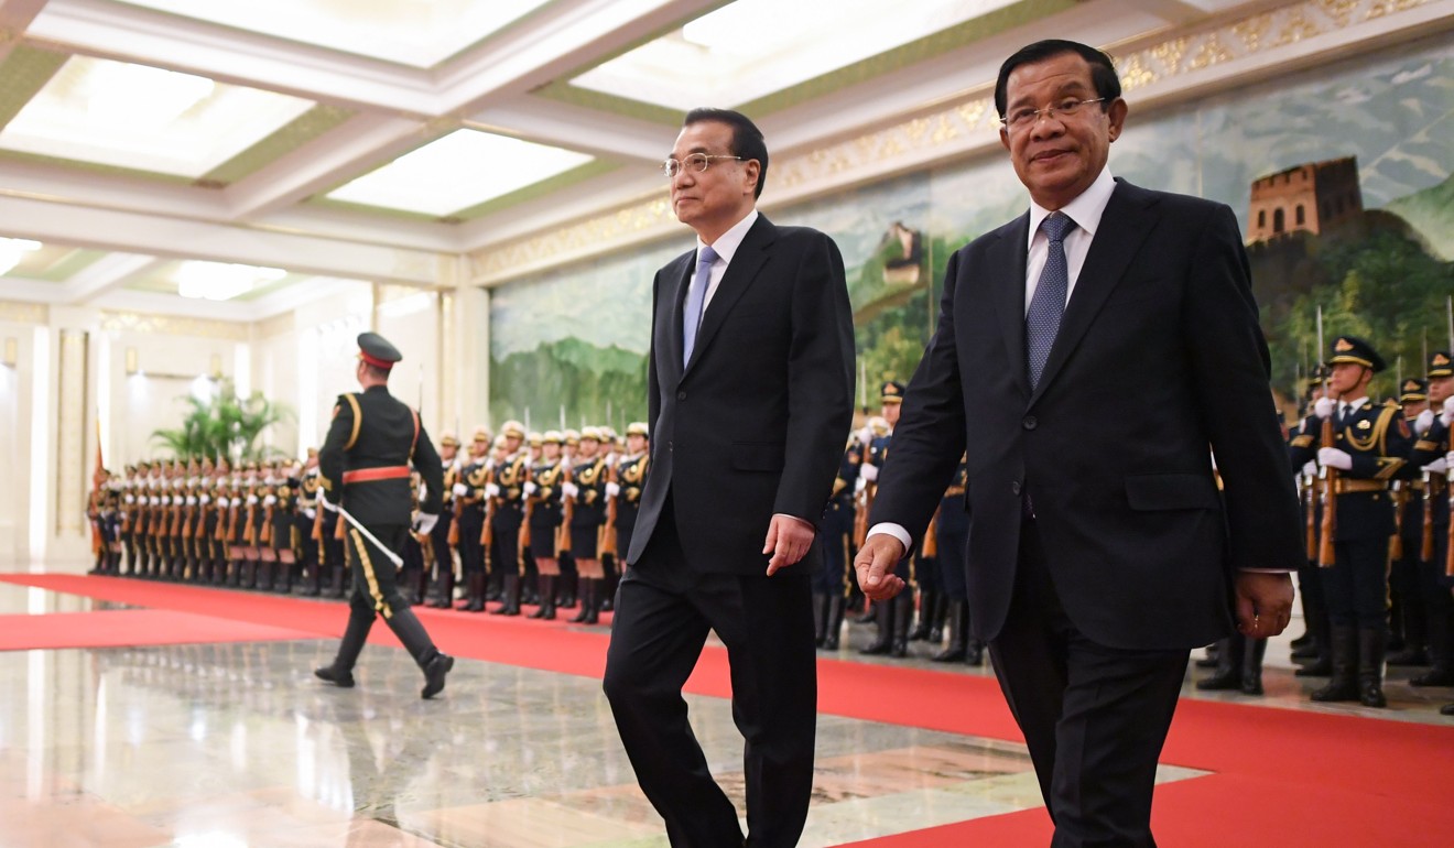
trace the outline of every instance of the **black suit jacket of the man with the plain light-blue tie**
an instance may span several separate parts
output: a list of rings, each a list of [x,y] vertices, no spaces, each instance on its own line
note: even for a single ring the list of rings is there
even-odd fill
[[[696,252],[653,284],[651,464],[628,561],[672,497],[694,569],[760,575],[774,513],[817,525],[853,415],[853,317],[833,240],[765,217],[747,231],[682,367]],[[797,569],[811,569],[810,553]]]

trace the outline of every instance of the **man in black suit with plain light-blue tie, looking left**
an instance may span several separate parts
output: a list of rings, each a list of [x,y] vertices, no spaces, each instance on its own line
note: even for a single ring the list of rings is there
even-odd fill
[[[743,845],[682,701],[715,631],[747,739],[747,844],[795,845],[813,787],[813,537],[853,404],[843,260],[823,233],[758,214],[768,150],[746,116],[692,111],[663,170],[698,244],[653,285],[651,465],[605,691],[672,845]]]

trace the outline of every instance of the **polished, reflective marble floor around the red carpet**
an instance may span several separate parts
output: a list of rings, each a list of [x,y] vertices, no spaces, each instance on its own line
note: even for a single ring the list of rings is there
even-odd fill
[[[6,615],[113,608],[0,585]],[[856,659],[852,646],[871,630],[852,625],[840,656]],[[390,647],[365,649],[356,688],[321,685],[310,671],[334,647],[300,640],[0,653],[0,845],[666,845],[599,681],[462,659],[448,697],[420,701],[419,671]],[[915,653],[893,662],[944,669],[926,660],[928,646]],[[1269,669],[1261,701],[1310,708],[1306,689],[1316,682],[1291,675],[1285,643],[1269,655],[1282,668]],[[1396,676],[1396,708],[1367,714],[1447,723],[1437,708],[1451,695]],[[730,704],[688,701],[712,772],[742,810],[742,737]],[[1163,767],[1160,780],[1201,774]],[[1019,745],[822,716],[801,845],[1038,806]]]

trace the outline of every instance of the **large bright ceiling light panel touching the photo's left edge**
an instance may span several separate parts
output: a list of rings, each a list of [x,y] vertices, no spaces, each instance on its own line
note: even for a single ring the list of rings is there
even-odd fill
[[[199,177],[314,103],[147,65],[71,57],[0,150]]]

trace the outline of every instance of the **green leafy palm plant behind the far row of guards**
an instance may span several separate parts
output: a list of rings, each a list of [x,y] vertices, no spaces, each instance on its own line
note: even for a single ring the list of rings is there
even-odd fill
[[[294,420],[294,412],[260,391],[241,399],[233,383],[224,380],[205,400],[190,394],[177,400],[188,407],[182,426],[151,433],[151,441],[169,448],[176,458],[227,457],[237,463],[285,454],[259,439],[272,425]]]

